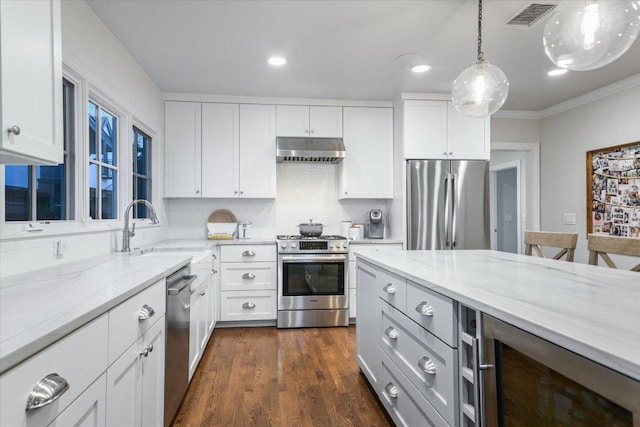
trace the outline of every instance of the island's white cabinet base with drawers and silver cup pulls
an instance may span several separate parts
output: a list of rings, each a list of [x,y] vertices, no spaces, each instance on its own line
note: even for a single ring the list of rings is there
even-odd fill
[[[358,364],[391,418],[460,425],[457,303],[364,260],[357,278]]]

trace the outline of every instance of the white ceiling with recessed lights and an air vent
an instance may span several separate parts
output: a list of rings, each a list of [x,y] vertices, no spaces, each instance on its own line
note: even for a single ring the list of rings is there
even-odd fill
[[[476,58],[475,0],[87,2],[165,92],[389,101],[400,92],[449,93]],[[485,59],[510,82],[503,110],[540,111],[640,74],[636,42],[601,69],[548,77],[546,19],[530,29],[505,25],[530,3],[483,2]],[[414,75],[396,61],[405,53],[433,68]],[[273,54],[288,64],[268,66]]]

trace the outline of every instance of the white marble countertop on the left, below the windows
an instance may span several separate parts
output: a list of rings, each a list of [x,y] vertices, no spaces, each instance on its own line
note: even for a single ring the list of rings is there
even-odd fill
[[[117,253],[2,278],[0,374],[188,263]]]

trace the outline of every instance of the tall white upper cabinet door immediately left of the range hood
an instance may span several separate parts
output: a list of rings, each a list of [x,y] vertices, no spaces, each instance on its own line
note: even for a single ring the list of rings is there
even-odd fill
[[[276,107],[240,105],[240,197],[276,197]]]

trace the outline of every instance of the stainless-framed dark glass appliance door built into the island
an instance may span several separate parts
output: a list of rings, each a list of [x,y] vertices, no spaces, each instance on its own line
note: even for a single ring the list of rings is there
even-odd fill
[[[640,427],[640,382],[487,315],[482,341],[483,426]]]

